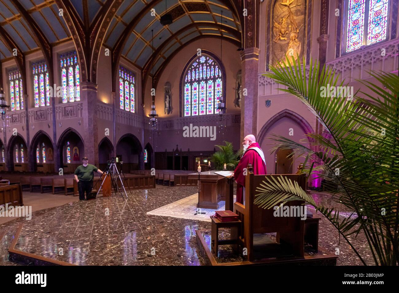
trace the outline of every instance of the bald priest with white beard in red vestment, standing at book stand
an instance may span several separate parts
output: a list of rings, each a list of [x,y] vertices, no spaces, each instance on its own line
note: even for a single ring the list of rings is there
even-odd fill
[[[237,182],[237,202],[244,203],[243,191],[245,187],[244,168],[251,163],[255,175],[266,175],[265,155],[259,144],[255,142],[255,136],[249,134],[243,140],[244,154],[234,170],[234,179]]]

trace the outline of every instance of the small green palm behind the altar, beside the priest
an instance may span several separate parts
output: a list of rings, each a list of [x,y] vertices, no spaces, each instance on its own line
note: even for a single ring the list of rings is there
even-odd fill
[[[215,145],[219,148],[212,157],[209,159],[215,164],[215,169],[222,170],[223,165],[226,164],[227,170],[234,170],[238,165],[240,157],[243,155],[243,149],[234,151],[233,144],[231,142],[224,142],[225,145]]]

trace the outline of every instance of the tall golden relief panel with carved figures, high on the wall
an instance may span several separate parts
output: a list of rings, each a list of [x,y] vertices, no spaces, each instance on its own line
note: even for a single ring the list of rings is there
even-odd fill
[[[273,65],[291,66],[292,58],[302,57],[304,22],[305,0],[276,1],[273,8]],[[290,59],[288,64],[286,55]]]

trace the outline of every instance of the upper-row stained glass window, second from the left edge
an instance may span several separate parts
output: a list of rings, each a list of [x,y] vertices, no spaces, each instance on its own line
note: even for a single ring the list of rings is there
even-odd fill
[[[44,61],[32,64],[33,94],[35,108],[50,106],[50,85],[47,65]]]

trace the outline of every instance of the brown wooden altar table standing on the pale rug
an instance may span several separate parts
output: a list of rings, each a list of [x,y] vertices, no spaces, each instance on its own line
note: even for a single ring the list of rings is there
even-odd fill
[[[189,179],[198,180],[198,173],[188,174]],[[233,178],[225,178],[215,174],[215,171],[201,172],[199,191],[199,208],[219,208],[219,201],[226,201],[225,210],[233,211]]]

